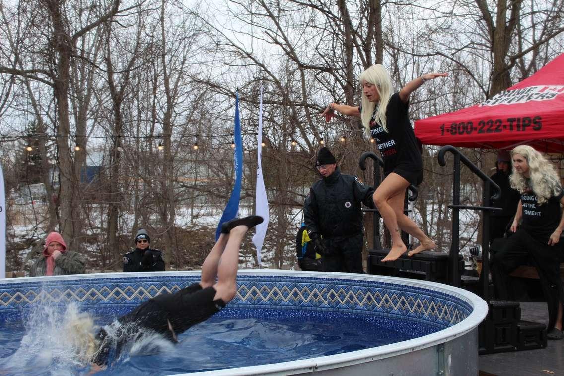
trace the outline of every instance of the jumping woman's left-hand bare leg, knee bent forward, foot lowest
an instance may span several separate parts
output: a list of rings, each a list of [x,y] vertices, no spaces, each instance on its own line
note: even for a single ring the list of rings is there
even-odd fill
[[[396,173],[390,173],[380,186],[374,192],[372,199],[374,205],[378,208],[386,228],[391,235],[391,250],[382,262],[394,261],[407,251],[406,244],[403,244],[402,236],[398,226],[398,218],[396,212],[403,211],[403,201],[400,208],[394,208],[390,205],[389,199],[395,195],[405,195],[409,182]],[[397,205],[396,202],[391,202]]]

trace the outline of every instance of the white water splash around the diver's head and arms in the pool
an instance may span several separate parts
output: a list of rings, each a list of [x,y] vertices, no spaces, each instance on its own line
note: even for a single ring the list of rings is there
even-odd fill
[[[41,304],[30,312],[24,328],[19,348],[1,362],[8,373],[75,375],[89,371],[99,346],[94,340],[98,328],[90,314],[80,312],[76,303]],[[104,329],[114,344],[124,339],[124,333],[127,335],[120,354],[110,359],[110,367],[131,356],[174,351],[168,339],[135,323],[121,325],[114,321]]]

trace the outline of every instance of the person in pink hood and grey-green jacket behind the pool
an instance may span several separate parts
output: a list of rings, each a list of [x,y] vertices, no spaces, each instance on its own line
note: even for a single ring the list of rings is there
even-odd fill
[[[52,232],[45,239],[45,248],[29,270],[30,277],[83,274],[85,257],[77,252],[67,252],[67,244],[59,233]]]

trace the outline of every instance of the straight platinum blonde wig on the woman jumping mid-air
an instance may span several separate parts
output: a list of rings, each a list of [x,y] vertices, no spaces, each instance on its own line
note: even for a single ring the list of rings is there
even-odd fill
[[[380,124],[382,128],[386,132],[387,124],[386,124],[386,108],[387,104],[390,102],[391,97],[391,78],[389,73],[384,68],[382,64],[374,64],[371,67],[368,67],[360,74],[360,84],[362,82],[368,82],[376,86],[376,90],[378,91],[378,95],[380,95],[380,99],[378,103],[370,102],[366,95],[364,95],[364,90],[362,93],[362,113],[360,113],[360,119],[362,119],[362,125],[368,134],[370,134],[370,120],[372,117],[372,113],[374,112],[374,108],[376,105],[378,106],[376,110],[375,120],[376,123]]]

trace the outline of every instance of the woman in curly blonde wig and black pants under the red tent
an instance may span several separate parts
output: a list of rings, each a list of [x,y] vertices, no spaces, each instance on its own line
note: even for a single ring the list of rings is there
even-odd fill
[[[509,299],[507,277],[519,265],[532,260],[548,305],[548,338],[562,339],[560,235],[564,229],[564,192],[552,163],[528,145],[511,151],[511,186],[521,194],[511,226],[515,233],[492,257],[493,286],[497,298]],[[521,225],[519,225],[521,222]]]

